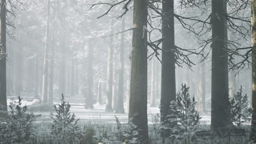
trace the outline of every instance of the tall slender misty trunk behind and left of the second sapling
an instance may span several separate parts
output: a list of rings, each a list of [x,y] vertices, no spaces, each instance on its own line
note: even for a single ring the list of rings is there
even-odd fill
[[[44,72],[43,72],[43,84],[42,84],[42,104],[48,102],[48,51],[49,51],[49,17],[50,17],[50,3],[47,1],[47,21],[45,32],[45,45],[44,45]]]

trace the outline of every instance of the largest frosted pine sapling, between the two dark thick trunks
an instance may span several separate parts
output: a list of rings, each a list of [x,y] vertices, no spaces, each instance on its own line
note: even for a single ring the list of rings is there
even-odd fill
[[[177,93],[177,100],[171,101],[166,122],[162,123],[161,129],[172,140],[183,139],[190,143],[198,130],[201,117],[195,109],[195,98],[190,98],[189,87],[182,84],[181,91]]]

